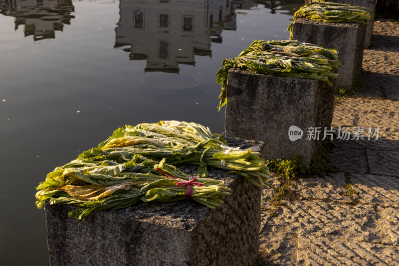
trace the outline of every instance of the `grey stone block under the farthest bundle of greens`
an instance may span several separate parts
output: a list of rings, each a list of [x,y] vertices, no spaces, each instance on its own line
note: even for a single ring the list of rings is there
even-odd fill
[[[351,88],[363,62],[366,25],[360,23],[327,23],[299,18],[292,28],[292,39],[309,42],[338,51],[342,66],[338,68],[337,87]]]

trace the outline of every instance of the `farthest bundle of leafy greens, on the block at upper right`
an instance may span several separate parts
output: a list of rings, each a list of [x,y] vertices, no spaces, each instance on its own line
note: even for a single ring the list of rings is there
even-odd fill
[[[334,2],[311,2],[299,8],[294,19],[288,26],[291,32],[292,26],[296,19],[303,17],[323,22],[355,22],[367,24],[367,20],[372,20],[373,10],[363,6],[355,6],[352,4],[334,3]]]

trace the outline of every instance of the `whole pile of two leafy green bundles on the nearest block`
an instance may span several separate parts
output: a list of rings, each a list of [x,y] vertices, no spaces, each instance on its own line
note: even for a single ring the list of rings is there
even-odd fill
[[[161,121],[116,130],[98,148],[54,169],[39,184],[36,205],[73,204],[69,216],[81,219],[92,211],[115,210],[143,202],[193,199],[209,208],[223,203],[230,189],[205,178],[207,166],[237,173],[256,186],[267,183],[269,171],[254,148],[227,146],[220,135],[195,123]],[[173,164],[200,165],[203,178],[188,176]],[[253,180],[256,178],[258,182]]]

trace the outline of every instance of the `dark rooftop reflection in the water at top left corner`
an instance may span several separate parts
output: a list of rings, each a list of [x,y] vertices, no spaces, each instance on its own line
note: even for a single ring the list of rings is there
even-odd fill
[[[23,25],[25,37],[33,35],[34,41],[55,38],[73,11],[72,0],[0,0],[0,14],[15,17],[15,30]]]

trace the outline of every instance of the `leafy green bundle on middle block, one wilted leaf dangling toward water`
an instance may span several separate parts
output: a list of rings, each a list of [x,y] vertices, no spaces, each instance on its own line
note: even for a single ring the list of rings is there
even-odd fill
[[[335,49],[295,40],[255,40],[237,57],[223,60],[222,65],[216,74],[217,84],[222,85],[219,111],[227,103],[227,74],[230,68],[240,68],[257,74],[317,79],[332,86],[329,78],[336,78],[337,74],[331,70],[338,68],[341,63]]]

